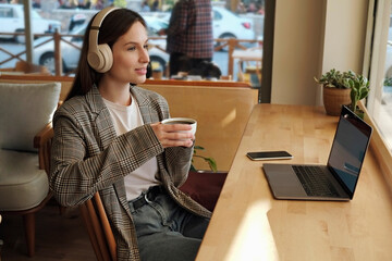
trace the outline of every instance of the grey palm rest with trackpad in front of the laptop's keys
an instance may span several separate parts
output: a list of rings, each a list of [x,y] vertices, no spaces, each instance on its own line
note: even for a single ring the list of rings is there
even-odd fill
[[[275,198],[306,198],[298,177],[290,164],[264,164],[264,171]]]

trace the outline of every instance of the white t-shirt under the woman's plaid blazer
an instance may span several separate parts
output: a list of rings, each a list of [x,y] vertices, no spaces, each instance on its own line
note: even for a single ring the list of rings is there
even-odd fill
[[[132,103],[128,107],[115,104],[103,99],[112,117],[117,135],[122,135],[144,124],[137,102],[132,96],[131,98]],[[147,190],[150,186],[159,185],[160,183],[155,177],[157,172],[157,158],[152,158],[137,170],[126,175],[124,177],[126,200],[130,201],[135,199],[142,191]]]

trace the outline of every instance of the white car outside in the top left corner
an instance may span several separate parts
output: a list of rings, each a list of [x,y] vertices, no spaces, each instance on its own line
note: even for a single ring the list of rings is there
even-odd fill
[[[61,22],[42,18],[38,12],[32,9],[32,32],[33,34],[53,33],[61,30]],[[23,4],[0,3],[0,32],[23,33],[25,32]],[[25,36],[1,35],[1,38],[14,38],[17,42],[24,44]]]

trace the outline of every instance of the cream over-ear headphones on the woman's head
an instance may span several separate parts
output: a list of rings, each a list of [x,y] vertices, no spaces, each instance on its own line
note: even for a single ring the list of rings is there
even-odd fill
[[[108,7],[95,16],[88,37],[88,64],[98,73],[108,72],[113,65],[113,54],[107,44],[98,45],[98,33],[105,17],[118,8]]]

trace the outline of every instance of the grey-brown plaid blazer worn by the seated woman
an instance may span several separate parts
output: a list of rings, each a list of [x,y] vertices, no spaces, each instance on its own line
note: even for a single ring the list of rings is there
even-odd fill
[[[99,191],[118,246],[119,260],[139,260],[124,176],[157,157],[158,176],[168,194],[188,211],[210,212],[177,189],[187,178],[193,148],[163,149],[150,123],[169,117],[163,97],[131,87],[145,125],[117,136],[97,89],[64,102],[54,113],[50,189],[62,206],[77,206]]]

